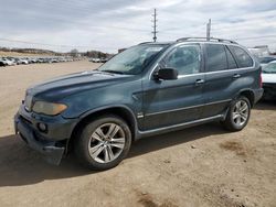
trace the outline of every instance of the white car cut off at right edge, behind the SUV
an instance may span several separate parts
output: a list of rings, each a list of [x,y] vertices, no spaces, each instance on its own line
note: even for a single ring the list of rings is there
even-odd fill
[[[276,61],[263,67],[263,99],[276,100]]]

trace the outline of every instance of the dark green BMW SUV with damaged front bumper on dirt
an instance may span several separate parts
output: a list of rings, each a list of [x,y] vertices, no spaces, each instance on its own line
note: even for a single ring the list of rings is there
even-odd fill
[[[141,43],[98,69],[26,90],[15,132],[59,164],[72,150],[89,168],[119,164],[134,141],[210,121],[248,122],[263,95],[261,66],[233,41]]]

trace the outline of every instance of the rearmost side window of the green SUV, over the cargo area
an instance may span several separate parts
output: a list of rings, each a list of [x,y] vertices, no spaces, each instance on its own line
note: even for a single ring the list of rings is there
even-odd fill
[[[238,46],[229,46],[231,52],[234,53],[237,64],[240,67],[252,67],[253,59],[251,56],[241,47]]]

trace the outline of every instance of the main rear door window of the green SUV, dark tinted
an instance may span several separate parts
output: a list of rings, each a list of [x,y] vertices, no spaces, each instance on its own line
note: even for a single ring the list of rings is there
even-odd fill
[[[205,44],[206,48],[206,72],[219,72],[227,69],[227,59],[224,45]]]

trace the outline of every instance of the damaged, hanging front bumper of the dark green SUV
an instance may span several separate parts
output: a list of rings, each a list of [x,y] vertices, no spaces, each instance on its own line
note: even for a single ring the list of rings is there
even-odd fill
[[[22,105],[14,116],[14,130],[31,149],[41,153],[49,163],[59,165],[74,129],[74,121],[62,117],[47,119],[43,116],[33,115],[26,112]],[[46,132],[41,132],[38,129],[40,122],[47,126]]]

